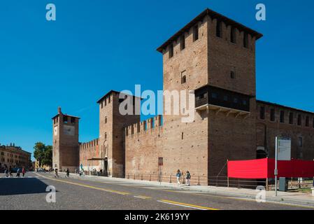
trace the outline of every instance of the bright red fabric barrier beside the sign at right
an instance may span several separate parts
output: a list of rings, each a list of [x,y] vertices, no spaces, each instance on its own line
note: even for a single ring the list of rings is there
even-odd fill
[[[228,177],[238,179],[274,178],[275,160],[228,161]],[[278,177],[313,177],[314,161],[278,161]]]

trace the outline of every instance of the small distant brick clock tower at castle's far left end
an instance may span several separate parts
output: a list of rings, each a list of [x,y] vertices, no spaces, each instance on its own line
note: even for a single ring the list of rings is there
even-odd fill
[[[52,118],[52,168],[74,172],[79,166],[78,123],[80,118],[63,114],[61,108]]]

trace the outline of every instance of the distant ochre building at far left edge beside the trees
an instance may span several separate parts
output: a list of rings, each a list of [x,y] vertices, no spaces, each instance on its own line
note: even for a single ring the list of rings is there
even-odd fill
[[[31,167],[31,153],[22,150],[21,147],[10,144],[10,146],[0,145],[0,168],[8,167]]]

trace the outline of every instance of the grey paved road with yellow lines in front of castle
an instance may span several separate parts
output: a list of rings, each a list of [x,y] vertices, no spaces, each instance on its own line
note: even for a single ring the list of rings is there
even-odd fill
[[[60,175],[61,176],[61,175]],[[46,188],[56,190],[56,202],[46,201]],[[123,210],[287,210],[314,209],[272,202],[198,193],[104,179],[55,179],[52,174],[27,173],[25,178],[0,174],[0,209],[123,209]]]

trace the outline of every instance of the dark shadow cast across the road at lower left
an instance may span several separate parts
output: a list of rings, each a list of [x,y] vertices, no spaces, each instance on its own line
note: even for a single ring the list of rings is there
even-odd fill
[[[0,196],[47,193],[47,187],[37,178],[1,178]]]

